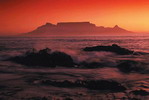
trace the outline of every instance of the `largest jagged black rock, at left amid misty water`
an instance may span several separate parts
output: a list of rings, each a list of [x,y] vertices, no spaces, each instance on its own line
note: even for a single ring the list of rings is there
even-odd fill
[[[73,67],[73,59],[70,55],[63,52],[51,52],[51,49],[43,49],[37,52],[36,50],[32,50],[26,52],[23,56],[16,56],[8,59],[10,61],[32,66],[32,67],[56,67],[56,66],[65,66],[65,67]]]

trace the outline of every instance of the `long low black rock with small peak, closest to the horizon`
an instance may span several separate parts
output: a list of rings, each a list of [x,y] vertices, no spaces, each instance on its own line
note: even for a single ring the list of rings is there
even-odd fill
[[[130,55],[134,53],[134,51],[128,50],[126,48],[122,48],[117,44],[113,44],[112,46],[86,47],[83,50],[84,51],[107,51],[107,52],[113,52],[119,55]]]

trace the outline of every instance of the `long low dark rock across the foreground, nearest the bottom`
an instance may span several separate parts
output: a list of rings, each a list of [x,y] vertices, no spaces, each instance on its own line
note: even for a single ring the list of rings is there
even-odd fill
[[[109,80],[85,80],[85,81],[77,80],[75,82],[71,82],[68,80],[65,81],[43,80],[41,84],[52,85],[55,87],[65,87],[65,88],[83,87],[88,88],[90,90],[101,90],[101,91],[106,90],[109,92],[121,92],[126,90],[126,88],[122,86],[120,83]]]

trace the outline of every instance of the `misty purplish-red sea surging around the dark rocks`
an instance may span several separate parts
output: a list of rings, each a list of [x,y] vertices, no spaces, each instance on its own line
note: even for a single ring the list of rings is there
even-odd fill
[[[0,37],[0,86],[6,86],[6,89],[0,91],[0,98],[3,98],[2,100],[35,100],[27,99],[32,97],[46,97],[47,100],[65,100],[65,98],[72,100],[128,100],[125,93],[114,93],[115,99],[113,99],[111,95],[107,96],[101,91],[92,91],[86,88],[41,86],[38,81],[43,79],[55,81],[115,80],[129,87],[128,91],[142,89],[149,92],[149,54],[117,55],[104,51],[83,51],[85,47],[112,44],[135,52],[149,53],[149,36]],[[101,62],[107,67],[94,69],[32,68],[4,61],[10,57],[23,55],[32,48],[36,50],[50,48],[52,51],[61,51],[70,55],[75,63]],[[116,66],[120,60],[145,63],[146,70],[142,73],[122,73],[117,68],[111,67]],[[34,82],[27,83],[31,78]],[[9,95],[7,92],[12,94]],[[5,93],[6,95],[4,95]],[[55,99],[49,99],[50,97]],[[126,99],[122,99],[123,97]],[[137,100],[148,99],[148,96],[137,97]]]

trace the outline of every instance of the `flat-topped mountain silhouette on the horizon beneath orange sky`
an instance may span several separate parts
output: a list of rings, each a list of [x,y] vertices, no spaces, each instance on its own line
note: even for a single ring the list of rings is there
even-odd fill
[[[46,23],[26,35],[128,35],[127,31],[115,25],[113,28],[96,26],[90,22],[60,22],[57,25]]]

